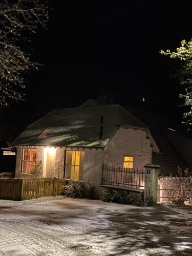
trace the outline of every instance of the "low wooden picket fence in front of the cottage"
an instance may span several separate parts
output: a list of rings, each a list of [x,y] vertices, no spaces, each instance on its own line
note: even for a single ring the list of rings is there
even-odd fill
[[[58,178],[0,178],[0,199],[29,200],[58,196],[67,185]]]

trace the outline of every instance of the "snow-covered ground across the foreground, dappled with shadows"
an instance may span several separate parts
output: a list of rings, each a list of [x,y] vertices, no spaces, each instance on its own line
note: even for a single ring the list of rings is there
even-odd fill
[[[0,255],[192,255],[192,206],[0,200]]]

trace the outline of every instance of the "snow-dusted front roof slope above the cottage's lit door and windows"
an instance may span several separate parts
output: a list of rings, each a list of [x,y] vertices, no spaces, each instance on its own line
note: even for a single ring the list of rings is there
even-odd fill
[[[99,139],[101,116],[103,136]],[[145,126],[118,104],[96,105],[95,102],[88,101],[78,108],[50,112],[29,125],[13,144],[103,147],[118,125]],[[44,138],[38,139],[48,127],[53,129]]]

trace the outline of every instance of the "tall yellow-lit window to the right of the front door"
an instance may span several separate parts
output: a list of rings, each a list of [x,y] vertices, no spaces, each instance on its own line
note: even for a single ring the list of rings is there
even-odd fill
[[[66,151],[65,178],[82,180],[84,151]]]

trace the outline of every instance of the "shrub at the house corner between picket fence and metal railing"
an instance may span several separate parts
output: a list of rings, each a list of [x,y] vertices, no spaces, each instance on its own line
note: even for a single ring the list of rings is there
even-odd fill
[[[94,187],[90,183],[71,182],[66,186],[65,195],[73,198],[93,198]]]

